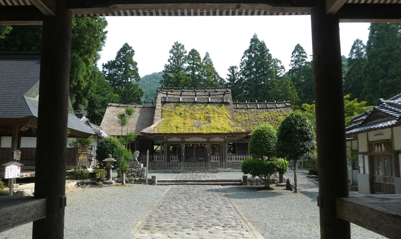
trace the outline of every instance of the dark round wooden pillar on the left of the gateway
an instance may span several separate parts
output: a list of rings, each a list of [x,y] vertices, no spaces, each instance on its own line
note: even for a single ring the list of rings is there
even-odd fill
[[[43,17],[35,198],[46,198],[46,218],[33,222],[32,238],[63,238],[71,12],[58,0]],[[51,183],[49,183],[51,182]]]

